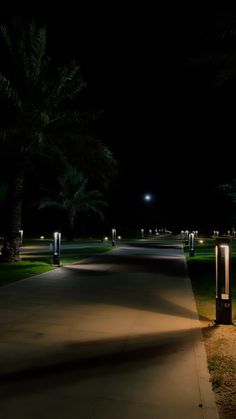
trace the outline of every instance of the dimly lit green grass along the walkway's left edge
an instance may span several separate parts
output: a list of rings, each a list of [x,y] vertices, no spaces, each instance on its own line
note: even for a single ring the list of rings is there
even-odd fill
[[[63,249],[60,262],[62,265],[74,263],[94,254],[111,250],[112,246],[94,246],[78,249]],[[22,260],[11,263],[0,263],[0,286],[38,275],[55,269],[52,265],[51,251],[37,250],[22,253]]]

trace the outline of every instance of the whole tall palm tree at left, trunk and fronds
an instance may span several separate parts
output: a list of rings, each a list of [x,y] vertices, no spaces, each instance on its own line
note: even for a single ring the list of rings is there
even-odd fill
[[[81,118],[73,105],[85,84],[76,62],[52,72],[45,26],[15,18],[7,26],[0,25],[0,35],[7,57],[0,72],[0,102],[6,110],[0,121],[0,145],[10,167],[2,259],[15,260],[26,169],[33,155],[47,150],[54,158],[64,158],[60,136],[72,126],[80,126]]]

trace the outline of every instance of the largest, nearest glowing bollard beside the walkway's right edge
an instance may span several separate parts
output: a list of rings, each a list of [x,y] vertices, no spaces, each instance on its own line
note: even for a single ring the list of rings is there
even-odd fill
[[[216,323],[232,324],[231,244],[216,239]]]

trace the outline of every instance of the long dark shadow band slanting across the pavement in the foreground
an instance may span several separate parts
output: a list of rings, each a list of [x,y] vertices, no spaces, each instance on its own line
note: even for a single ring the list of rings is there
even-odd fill
[[[171,354],[183,351],[186,345],[191,349],[192,330],[191,333],[190,330],[181,330],[137,335],[129,338],[128,346],[124,345],[121,350],[119,343],[124,342],[124,337],[98,339],[83,344],[65,342],[65,350],[61,354],[51,354],[40,361],[35,359],[35,365],[24,370],[0,374],[0,399],[12,398],[26,391],[38,392],[40,380],[44,380],[45,389],[45,386],[60,387],[85,378],[96,378],[99,374],[120,374],[154,366]],[[158,361],[160,358],[162,361]]]

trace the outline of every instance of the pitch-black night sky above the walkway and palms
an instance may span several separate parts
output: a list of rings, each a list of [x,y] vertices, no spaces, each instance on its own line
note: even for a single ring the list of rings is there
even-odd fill
[[[18,11],[9,6],[4,16]],[[214,189],[236,177],[233,3],[87,1],[20,13],[47,23],[50,54],[78,59],[88,102],[105,110],[98,135],[120,172],[110,222],[217,228]]]

